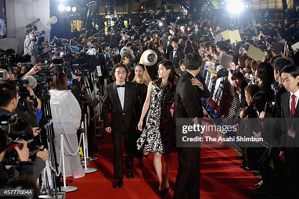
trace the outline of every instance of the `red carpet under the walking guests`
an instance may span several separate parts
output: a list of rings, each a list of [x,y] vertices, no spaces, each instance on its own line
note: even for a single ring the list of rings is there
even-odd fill
[[[145,165],[138,167],[134,160],[135,178],[124,178],[124,186],[113,189],[113,153],[111,136],[96,140],[100,149],[94,156],[99,159],[92,161],[89,167],[98,171],[86,174],[85,177],[74,179],[69,185],[77,186],[75,192],[66,194],[67,199],[159,199],[158,179],[154,172],[152,155],[144,159]],[[165,199],[172,199],[173,187],[178,167],[177,154],[172,153],[170,174],[170,191]],[[124,158],[125,160],[125,158]],[[124,161],[125,162],[125,161]],[[252,184],[256,178],[249,171],[238,167],[240,158],[229,148],[202,148],[201,150],[201,199],[252,199],[256,193]]]

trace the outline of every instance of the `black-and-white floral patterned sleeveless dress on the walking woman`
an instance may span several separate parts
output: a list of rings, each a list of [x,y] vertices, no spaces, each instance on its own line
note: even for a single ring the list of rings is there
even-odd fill
[[[175,89],[152,82],[150,106],[145,128],[137,140],[137,148],[149,153],[170,153],[173,138],[171,106]]]

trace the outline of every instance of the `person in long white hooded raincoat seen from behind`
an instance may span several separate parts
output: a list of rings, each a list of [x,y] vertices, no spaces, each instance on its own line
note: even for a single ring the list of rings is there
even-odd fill
[[[78,149],[77,129],[80,127],[81,109],[71,90],[67,89],[67,77],[63,72],[55,73],[50,83],[50,105],[55,132],[55,150],[59,163],[60,160],[60,137],[63,133],[65,144],[74,154]],[[64,143],[63,143],[64,145]],[[79,153],[70,155],[64,146],[65,177],[84,177],[85,173],[81,166]],[[61,171],[63,173],[63,171]]]

